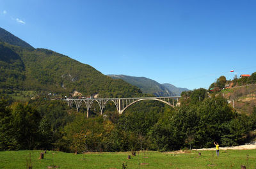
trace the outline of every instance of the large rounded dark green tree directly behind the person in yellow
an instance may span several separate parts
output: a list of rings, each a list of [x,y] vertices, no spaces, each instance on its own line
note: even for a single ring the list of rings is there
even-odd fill
[[[225,98],[207,98],[197,111],[200,117],[198,142],[202,147],[211,147],[213,141],[221,143],[221,136],[230,134],[228,125],[236,114]]]

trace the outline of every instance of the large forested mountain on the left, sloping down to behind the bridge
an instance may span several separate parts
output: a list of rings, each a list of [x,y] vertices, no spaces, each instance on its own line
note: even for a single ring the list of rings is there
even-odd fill
[[[78,91],[84,96],[99,94],[99,97],[110,98],[142,94],[137,87],[103,75],[88,64],[52,50],[29,47],[28,43],[21,43],[22,40],[4,29],[0,32],[4,37],[0,42],[0,92],[36,91],[68,95]]]

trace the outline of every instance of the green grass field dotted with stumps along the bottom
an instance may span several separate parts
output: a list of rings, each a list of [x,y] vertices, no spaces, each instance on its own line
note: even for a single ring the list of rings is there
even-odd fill
[[[131,152],[93,152],[71,154],[47,151],[44,159],[39,159],[42,151],[4,151],[0,152],[0,168],[26,168],[31,159],[33,168],[256,168],[256,150],[173,152],[137,152],[127,159]],[[198,155],[201,152],[201,156]],[[29,158],[31,154],[31,158]],[[53,161],[52,161],[53,159]]]

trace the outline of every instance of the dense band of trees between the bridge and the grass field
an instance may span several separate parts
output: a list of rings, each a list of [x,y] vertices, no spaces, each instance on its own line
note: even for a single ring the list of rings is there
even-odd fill
[[[1,99],[0,112],[1,150],[172,151],[212,147],[213,141],[239,145],[256,129],[256,108],[250,116],[237,114],[225,98],[209,98],[205,89],[183,92],[179,107],[145,101],[122,115],[106,110],[88,119],[61,101],[44,99]]]

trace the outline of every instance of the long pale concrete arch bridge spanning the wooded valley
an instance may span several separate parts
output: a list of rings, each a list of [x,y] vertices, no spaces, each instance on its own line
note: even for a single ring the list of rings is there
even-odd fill
[[[100,114],[102,115],[104,108],[108,101],[113,101],[115,103],[118,114],[122,114],[128,107],[143,100],[156,100],[169,105],[170,107],[175,107],[175,101],[179,102],[180,96],[170,96],[170,97],[151,97],[151,98],[86,98],[86,99],[64,99],[67,101],[68,107],[72,107],[73,104],[76,105],[77,112],[81,107],[82,103],[85,103],[87,108],[87,117],[89,117],[89,110],[92,108],[92,103],[96,101],[100,107]]]

